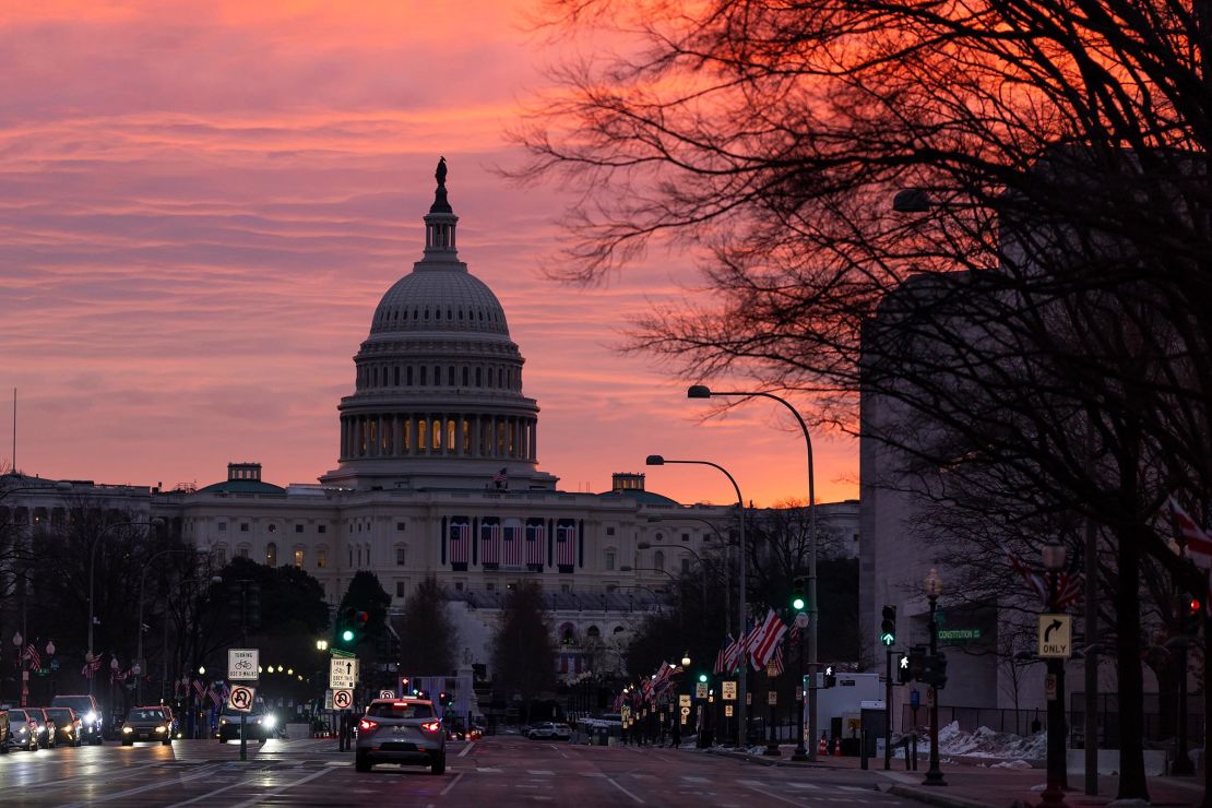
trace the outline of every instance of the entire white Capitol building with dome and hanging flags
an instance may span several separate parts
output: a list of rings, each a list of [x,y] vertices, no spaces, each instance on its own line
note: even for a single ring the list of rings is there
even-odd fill
[[[258,463],[231,463],[227,480],[196,491],[73,482],[74,495],[164,517],[218,565],[234,556],[296,565],[332,603],[365,569],[398,612],[435,574],[464,661],[488,661],[504,594],[536,580],[549,600],[560,674],[616,669],[630,629],[659,608],[678,575],[722,546],[736,509],[680,505],[646,491],[642,474],[614,474],[605,493],[568,493],[539,470],[539,407],[524,394],[525,360],[501,302],[459,260],[445,160],[435,176],[423,257],[375,309],[353,391],[337,406],[337,468],[319,485],[284,488],[264,481]],[[63,508],[53,492],[27,495],[23,506],[17,521],[29,523]],[[857,539],[857,503],[818,512]]]

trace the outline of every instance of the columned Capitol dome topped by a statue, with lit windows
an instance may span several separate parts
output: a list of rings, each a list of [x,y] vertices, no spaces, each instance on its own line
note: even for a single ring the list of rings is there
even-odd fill
[[[344,488],[554,489],[538,471],[538,405],[505,311],[458,259],[458,217],[439,161],[424,257],[383,294],[341,400]]]

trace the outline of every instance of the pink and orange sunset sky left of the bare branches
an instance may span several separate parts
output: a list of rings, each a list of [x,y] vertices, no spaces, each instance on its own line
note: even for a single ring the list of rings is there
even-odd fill
[[[617,351],[697,282],[692,254],[594,290],[539,274],[566,200],[492,172],[518,164],[503,131],[561,56],[530,8],[0,0],[0,464],[17,388],[27,474],[172,487],[257,460],[315,482],[445,155],[461,258],[504,305],[561,488],[647,471],[681,502],[732,497],[711,469],[645,469],[659,453],[720,463],[758,504],[806,497],[774,405],[699,423],[684,382]],[[856,443],[816,442],[818,498],[856,497]]]

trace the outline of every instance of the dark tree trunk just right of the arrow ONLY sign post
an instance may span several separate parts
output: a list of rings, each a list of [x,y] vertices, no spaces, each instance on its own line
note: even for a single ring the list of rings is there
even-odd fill
[[[1144,676],[1140,665],[1140,540],[1134,529],[1121,534],[1115,581],[1120,683],[1119,800],[1149,800],[1144,777]]]

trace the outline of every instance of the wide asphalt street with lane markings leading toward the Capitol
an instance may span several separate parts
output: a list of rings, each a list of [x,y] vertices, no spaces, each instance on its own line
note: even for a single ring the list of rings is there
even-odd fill
[[[451,744],[444,777],[421,768],[358,774],[335,740],[250,746],[213,740],[12,752],[0,758],[6,806],[917,804],[881,792],[874,772],[767,768],[691,750],[579,746],[516,735]]]

